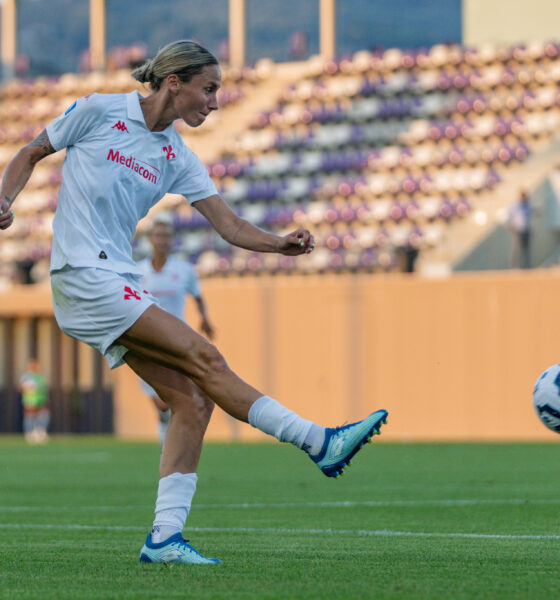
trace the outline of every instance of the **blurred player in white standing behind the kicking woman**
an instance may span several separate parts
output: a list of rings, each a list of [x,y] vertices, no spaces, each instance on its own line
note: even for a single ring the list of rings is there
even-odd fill
[[[142,271],[142,284],[152,296],[157,298],[163,310],[185,318],[187,294],[196,300],[200,314],[200,330],[209,339],[214,339],[214,328],[206,312],[206,302],[200,291],[198,275],[191,263],[171,256],[173,246],[173,219],[168,213],[158,213],[152,222],[150,244],[152,255],[138,262]],[[171,411],[157,392],[142,380],[142,391],[150,396],[158,412],[159,439],[163,445]]]

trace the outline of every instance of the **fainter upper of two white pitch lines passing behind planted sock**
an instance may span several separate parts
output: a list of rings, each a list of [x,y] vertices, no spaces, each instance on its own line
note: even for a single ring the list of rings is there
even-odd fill
[[[332,502],[285,502],[264,503],[246,502],[242,504],[193,504],[194,510],[252,510],[252,509],[274,509],[274,508],[359,508],[359,507],[430,507],[430,506],[516,506],[516,505],[560,505],[560,499],[448,499],[448,500],[342,500]],[[119,510],[151,510],[153,505],[116,505],[116,506],[0,506],[0,512],[54,512],[70,510],[87,511],[119,511]]]

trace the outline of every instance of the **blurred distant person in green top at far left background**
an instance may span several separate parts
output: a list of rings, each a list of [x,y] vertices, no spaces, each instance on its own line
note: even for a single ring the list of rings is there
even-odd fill
[[[47,381],[39,368],[39,361],[30,358],[27,371],[19,380],[23,404],[23,433],[30,444],[47,441],[50,411]]]

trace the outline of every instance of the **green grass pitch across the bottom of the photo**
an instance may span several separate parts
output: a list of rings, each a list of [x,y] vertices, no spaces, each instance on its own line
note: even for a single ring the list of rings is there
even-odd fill
[[[559,438],[560,439],[560,438]],[[185,537],[138,561],[159,448],[0,438],[0,598],[557,598],[558,444],[389,444],[339,480],[281,444],[208,444]]]

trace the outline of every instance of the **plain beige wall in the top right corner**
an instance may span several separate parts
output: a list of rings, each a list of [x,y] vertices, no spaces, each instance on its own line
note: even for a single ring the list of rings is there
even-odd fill
[[[463,44],[557,40],[556,0],[463,0]]]

